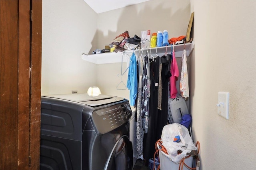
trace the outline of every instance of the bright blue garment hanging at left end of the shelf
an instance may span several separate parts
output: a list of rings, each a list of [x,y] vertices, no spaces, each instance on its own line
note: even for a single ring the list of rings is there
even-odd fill
[[[127,88],[130,90],[130,105],[135,105],[135,100],[137,98],[138,92],[138,82],[137,82],[137,61],[136,56],[132,53],[130,57],[130,65],[128,71],[128,78],[127,78]]]

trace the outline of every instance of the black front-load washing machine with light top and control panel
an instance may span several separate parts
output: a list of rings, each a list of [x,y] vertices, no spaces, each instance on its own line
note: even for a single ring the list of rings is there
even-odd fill
[[[59,94],[41,102],[40,170],[132,170],[128,100]]]

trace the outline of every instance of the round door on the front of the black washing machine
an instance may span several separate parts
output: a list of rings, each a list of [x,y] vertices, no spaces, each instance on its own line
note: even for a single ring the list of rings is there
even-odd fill
[[[105,164],[104,170],[132,170],[132,143],[128,136],[121,136]]]

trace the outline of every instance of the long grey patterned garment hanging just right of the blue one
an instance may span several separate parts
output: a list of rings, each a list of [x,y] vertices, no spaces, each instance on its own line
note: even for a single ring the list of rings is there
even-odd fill
[[[143,62],[138,60],[138,94],[137,94],[137,106],[136,106],[136,150],[137,159],[143,159],[143,126],[142,126],[142,74],[143,74]]]

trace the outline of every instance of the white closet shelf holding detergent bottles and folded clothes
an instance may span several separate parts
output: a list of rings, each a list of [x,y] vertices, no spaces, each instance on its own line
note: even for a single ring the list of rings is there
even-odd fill
[[[174,45],[174,51],[175,51],[175,57],[182,57],[182,52],[184,50],[184,47],[186,49],[186,55],[187,57],[190,55],[190,53],[194,49],[194,41],[192,43],[186,43],[184,44],[178,44]],[[125,53],[128,53],[132,55],[133,50],[126,50]],[[158,56],[164,55],[164,53],[170,53],[171,52],[171,45],[167,47],[156,47],[151,48],[151,54],[154,56],[156,53]],[[138,55],[139,50],[134,50],[135,55]],[[144,54],[146,54],[146,50],[143,51]],[[150,49],[148,49],[148,53],[150,53]],[[92,55],[86,55],[82,54],[82,59],[85,61],[89,61],[91,63],[95,64],[105,64],[105,63],[121,63],[122,62],[122,52],[112,52],[112,53],[101,53],[101,54],[92,54]],[[123,59],[123,62],[126,62],[126,59]]]

